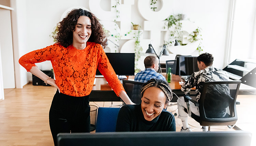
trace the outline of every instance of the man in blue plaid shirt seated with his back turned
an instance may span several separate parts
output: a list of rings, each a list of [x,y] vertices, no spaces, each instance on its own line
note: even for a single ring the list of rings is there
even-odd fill
[[[146,83],[148,80],[155,78],[166,80],[166,78],[157,73],[159,68],[159,60],[155,56],[147,56],[144,59],[145,70],[135,75],[134,81],[140,81]]]

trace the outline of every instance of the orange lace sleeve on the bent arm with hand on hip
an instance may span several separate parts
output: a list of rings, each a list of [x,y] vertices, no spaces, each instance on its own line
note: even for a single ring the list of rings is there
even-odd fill
[[[29,72],[32,67],[36,66],[35,63],[51,59],[52,47],[53,45],[50,45],[46,48],[35,50],[23,55],[19,58],[19,64],[22,65],[27,70],[27,72]]]

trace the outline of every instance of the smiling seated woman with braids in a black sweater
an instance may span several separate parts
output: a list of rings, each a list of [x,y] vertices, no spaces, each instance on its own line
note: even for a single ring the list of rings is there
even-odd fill
[[[169,84],[151,79],[142,86],[141,95],[141,104],[120,109],[116,131],[176,131],[173,114],[163,110],[172,99]]]

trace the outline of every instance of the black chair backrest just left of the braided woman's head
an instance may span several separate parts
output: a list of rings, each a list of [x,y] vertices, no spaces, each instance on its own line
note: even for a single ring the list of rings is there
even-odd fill
[[[135,104],[141,103],[141,87],[144,83],[140,81],[123,80],[125,92]]]

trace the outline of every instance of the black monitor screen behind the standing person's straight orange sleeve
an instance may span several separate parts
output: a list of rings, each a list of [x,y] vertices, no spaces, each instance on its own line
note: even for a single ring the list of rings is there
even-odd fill
[[[117,75],[134,75],[134,53],[106,53]],[[96,75],[101,75],[97,69]]]

